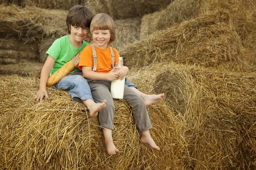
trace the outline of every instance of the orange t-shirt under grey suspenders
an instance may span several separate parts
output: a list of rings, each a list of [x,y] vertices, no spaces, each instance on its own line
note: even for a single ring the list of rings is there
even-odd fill
[[[106,49],[98,48],[94,45],[96,55],[97,55],[97,69],[98,73],[108,73],[112,70],[112,56],[111,49],[108,46]],[[119,54],[115,48],[113,48],[113,53],[115,54],[115,62],[117,61]],[[93,49],[90,45],[87,45],[81,53],[78,68],[82,69],[83,66],[91,67],[93,70]]]

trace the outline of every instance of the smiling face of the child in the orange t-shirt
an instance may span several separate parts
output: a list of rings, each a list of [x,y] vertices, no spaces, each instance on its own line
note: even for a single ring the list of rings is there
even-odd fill
[[[102,49],[106,49],[108,47],[108,42],[111,38],[109,30],[94,30],[92,36],[93,45]]]

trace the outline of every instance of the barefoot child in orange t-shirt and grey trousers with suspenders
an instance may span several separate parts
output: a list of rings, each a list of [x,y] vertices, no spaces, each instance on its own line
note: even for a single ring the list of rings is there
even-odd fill
[[[102,102],[104,99],[108,101],[106,107],[99,111],[99,122],[100,127],[103,127],[107,152],[109,155],[113,155],[118,153],[119,150],[113,144],[112,138],[114,105],[110,94],[111,81],[124,79],[129,69],[122,66],[119,71],[115,72],[116,68],[111,67],[113,61],[111,48],[108,45],[115,40],[115,31],[113,19],[110,16],[96,14],[90,25],[90,34],[93,43],[82,51],[79,68],[82,69],[84,77],[90,85],[93,99],[96,102]],[[93,71],[93,49],[97,55],[96,71]],[[113,53],[115,54],[114,63],[116,63],[119,54],[114,48]],[[137,128],[141,133],[141,142],[148,144],[152,149],[160,150],[149,132],[152,126],[143,98],[125,85],[124,99],[132,107]]]

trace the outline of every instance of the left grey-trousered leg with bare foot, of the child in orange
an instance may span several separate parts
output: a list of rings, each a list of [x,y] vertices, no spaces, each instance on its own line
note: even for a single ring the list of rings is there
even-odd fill
[[[107,80],[90,81],[89,85],[96,102],[102,102],[104,99],[108,101],[106,107],[99,111],[99,123],[100,127],[103,127],[104,142],[108,154],[116,154],[119,150],[116,149],[112,138],[114,102],[110,94],[111,82]]]

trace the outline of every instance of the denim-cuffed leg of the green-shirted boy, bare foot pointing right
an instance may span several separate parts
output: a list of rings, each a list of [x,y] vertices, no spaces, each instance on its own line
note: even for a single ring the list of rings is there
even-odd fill
[[[146,106],[153,105],[154,103],[160,102],[164,98],[164,94],[145,94],[138,90],[137,86],[125,78],[125,85],[135,91],[144,100]]]

